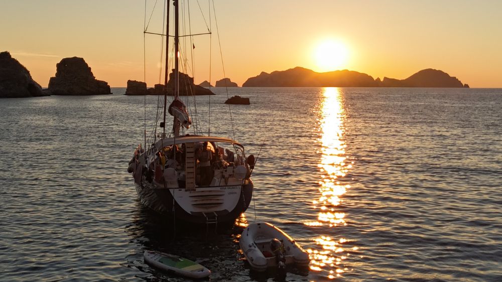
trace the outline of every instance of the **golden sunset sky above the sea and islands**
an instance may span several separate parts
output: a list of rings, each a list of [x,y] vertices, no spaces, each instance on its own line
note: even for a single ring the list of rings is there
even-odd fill
[[[212,1],[198,3],[209,25]],[[144,81],[145,6],[149,17],[154,4],[0,0],[0,51],[11,52],[43,87],[56,64],[73,56],[84,58],[96,78],[112,87],[124,87],[128,79]],[[158,0],[149,31],[162,32],[162,4]],[[214,7],[213,85],[223,78],[216,19],[226,77],[239,86],[262,71],[301,66],[397,79],[433,68],[471,87],[502,87],[502,1],[214,0]],[[207,32],[200,10],[190,1],[192,33]],[[146,80],[153,86],[159,82],[161,38],[145,38]],[[209,80],[209,36],[196,37],[194,44],[194,76],[200,83]],[[343,55],[328,57],[326,49]]]

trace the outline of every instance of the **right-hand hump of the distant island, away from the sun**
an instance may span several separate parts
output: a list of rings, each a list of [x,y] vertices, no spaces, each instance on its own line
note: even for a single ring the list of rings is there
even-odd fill
[[[464,87],[456,78],[447,73],[425,69],[413,74],[407,79],[398,80],[384,77],[384,80],[378,85],[380,87]]]

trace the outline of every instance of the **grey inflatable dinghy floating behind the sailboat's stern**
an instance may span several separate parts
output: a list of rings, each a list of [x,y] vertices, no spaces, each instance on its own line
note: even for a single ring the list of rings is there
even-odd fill
[[[277,250],[272,249],[274,242],[282,243],[282,254],[285,264],[307,266],[309,254],[281,229],[267,222],[249,224],[240,236],[240,248],[247,261],[254,269],[265,271],[268,267],[277,267],[281,263]]]

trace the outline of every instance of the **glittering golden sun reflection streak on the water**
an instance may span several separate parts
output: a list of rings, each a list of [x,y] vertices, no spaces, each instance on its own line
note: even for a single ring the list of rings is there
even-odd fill
[[[332,228],[337,225],[346,225],[345,213],[337,210],[340,198],[350,185],[342,184],[339,179],[344,177],[352,164],[346,163],[345,142],[343,141],[344,110],[338,88],[324,88],[323,102],[320,110],[319,121],[321,137],[321,160],[318,167],[322,173],[319,181],[320,196],[314,200],[314,208],[319,209],[317,220],[307,222],[309,226],[326,226]],[[308,249],[310,253],[310,269],[313,271],[327,272],[328,278],[341,276],[348,270],[342,267],[341,261],[345,259],[343,243],[348,240],[338,240],[329,236],[320,236],[315,239],[317,249]]]

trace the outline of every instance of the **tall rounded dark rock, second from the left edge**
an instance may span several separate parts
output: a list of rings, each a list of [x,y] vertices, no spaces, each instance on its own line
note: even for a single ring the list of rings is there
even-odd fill
[[[107,82],[96,80],[91,68],[82,58],[64,58],[56,65],[56,76],[49,80],[54,95],[111,94]]]

